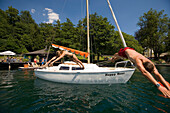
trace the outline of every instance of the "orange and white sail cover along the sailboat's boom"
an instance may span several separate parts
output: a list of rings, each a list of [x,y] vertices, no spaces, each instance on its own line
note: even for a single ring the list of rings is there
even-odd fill
[[[71,48],[60,46],[60,45],[56,45],[56,44],[52,44],[52,47],[59,48],[60,50],[70,51],[72,53],[79,54],[79,55],[84,56],[84,57],[88,57],[88,53],[87,52],[71,49]]]

